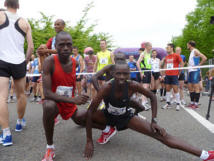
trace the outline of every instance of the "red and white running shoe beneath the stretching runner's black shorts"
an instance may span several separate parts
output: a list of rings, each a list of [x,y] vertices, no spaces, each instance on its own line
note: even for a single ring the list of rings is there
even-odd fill
[[[113,137],[116,133],[117,133],[117,130],[114,127],[111,127],[109,132],[107,133],[102,132],[100,138],[97,139],[97,143],[106,144],[111,139],[111,137]]]

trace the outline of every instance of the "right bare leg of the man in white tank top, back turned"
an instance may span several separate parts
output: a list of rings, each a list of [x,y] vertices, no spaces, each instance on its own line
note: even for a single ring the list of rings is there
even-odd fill
[[[22,119],[25,114],[25,109],[27,105],[26,101],[26,95],[25,95],[25,83],[26,83],[26,78],[21,78],[18,80],[14,80],[14,85],[15,85],[15,92],[16,92],[16,97],[17,97],[17,113],[18,113],[18,118]]]

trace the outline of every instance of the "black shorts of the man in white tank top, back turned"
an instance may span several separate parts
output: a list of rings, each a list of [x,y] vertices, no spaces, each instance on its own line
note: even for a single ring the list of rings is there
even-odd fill
[[[10,77],[14,80],[24,78],[26,76],[26,62],[21,64],[11,64],[0,60],[0,77]]]

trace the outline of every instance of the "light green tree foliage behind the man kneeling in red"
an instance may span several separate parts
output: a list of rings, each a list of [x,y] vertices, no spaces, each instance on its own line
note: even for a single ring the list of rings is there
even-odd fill
[[[75,26],[69,26],[68,22],[66,23],[65,31],[69,32],[73,39],[73,46],[79,48],[79,51],[82,53],[84,48],[90,46],[94,49],[95,52],[100,50],[100,40],[106,40],[108,47],[113,47],[112,37],[108,33],[95,33],[94,29],[97,24],[88,25],[88,12],[93,8],[93,3],[89,3],[86,8],[83,10],[83,16],[77,22]],[[40,44],[46,44],[47,40],[55,36],[55,30],[53,27],[53,18],[54,16],[46,16],[44,13],[40,13],[40,19],[29,19],[29,23],[32,28],[32,36],[35,49],[37,49]],[[27,45],[25,44],[25,49]]]

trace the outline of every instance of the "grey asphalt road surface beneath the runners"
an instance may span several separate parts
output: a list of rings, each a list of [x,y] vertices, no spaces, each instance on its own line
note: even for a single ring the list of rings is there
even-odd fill
[[[189,100],[189,97],[186,97]],[[206,116],[208,97],[201,97],[200,109],[196,112]],[[184,109],[179,112],[175,108],[162,110],[164,103],[159,102],[159,125],[168,133],[177,136],[201,149],[214,149],[214,134],[196,121]],[[79,107],[85,108],[85,106]],[[214,102],[212,104],[214,108]],[[15,132],[17,119],[16,104],[9,104],[10,127],[14,145],[0,146],[0,161],[41,161],[46,148],[46,140],[42,125],[42,106],[36,103],[27,104],[27,127],[20,133]],[[151,111],[142,112],[150,120]],[[211,123],[214,123],[214,109],[211,110]],[[84,161],[83,151],[86,143],[84,128],[80,128],[72,120],[63,121],[55,127],[54,144],[55,161]],[[200,159],[185,152],[170,149],[162,143],[140,133],[125,130],[119,132],[106,145],[98,145],[95,140],[100,131],[93,130],[95,153],[92,161],[199,161]]]

